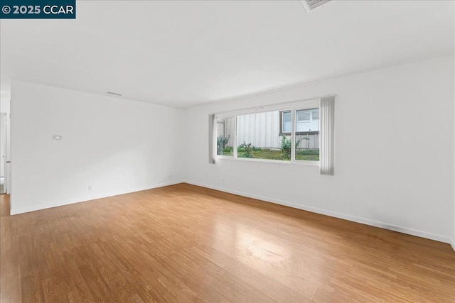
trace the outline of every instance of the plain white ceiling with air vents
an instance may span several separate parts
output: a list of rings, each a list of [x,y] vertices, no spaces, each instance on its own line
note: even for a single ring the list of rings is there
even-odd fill
[[[454,53],[454,1],[77,1],[1,20],[11,79],[188,107]]]

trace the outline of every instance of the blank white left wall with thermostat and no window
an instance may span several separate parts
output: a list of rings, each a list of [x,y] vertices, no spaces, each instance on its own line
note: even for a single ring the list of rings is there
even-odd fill
[[[181,118],[181,109],[13,81],[11,214],[182,180]]]

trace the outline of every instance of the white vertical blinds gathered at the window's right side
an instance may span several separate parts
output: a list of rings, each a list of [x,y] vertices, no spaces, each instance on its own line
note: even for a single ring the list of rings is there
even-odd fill
[[[321,98],[321,175],[333,176],[334,109],[335,97]]]

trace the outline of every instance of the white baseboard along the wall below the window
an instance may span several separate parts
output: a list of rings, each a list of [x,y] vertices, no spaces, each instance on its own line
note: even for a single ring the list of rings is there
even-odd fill
[[[311,212],[314,212],[316,214],[323,214],[323,215],[326,215],[326,216],[333,216],[333,217],[339,218],[339,219],[345,219],[345,220],[348,220],[348,221],[353,221],[353,222],[357,222],[357,223],[361,223],[361,224],[366,224],[366,225],[370,225],[370,226],[385,228],[385,229],[388,229],[390,231],[398,231],[400,233],[407,233],[407,234],[412,235],[412,236],[418,236],[418,237],[422,237],[422,238],[428,238],[428,239],[434,240],[434,241],[449,243],[449,244],[451,244],[452,248],[454,248],[454,250],[455,250],[455,243],[454,243],[454,241],[452,241],[451,238],[446,237],[446,236],[441,236],[441,235],[438,235],[438,234],[435,234],[435,233],[429,233],[427,231],[419,231],[419,230],[414,229],[414,228],[407,228],[407,227],[397,226],[397,225],[393,225],[393,224],[387,224],[387,223],[384,223],[384,222],[375,221],[375,220],[371,220],[371,219],[365,219],[365,218],[361,218],[361,217],[358,217],[358,216],[350,216],[348,214],[341,214],[341,213],[338,213],[338,212],[335,212],[335,211],[328,211],[326,209],[319,209],[319,208],[312,207],[312,206],[294,204],[294,203],[283,201],[283,200],[272,199],[272,198],[269,198],[269,197],[262,197],[262,196],[255,195],[255,194],[247,194],[246,192],[238,192],[236,190],[225,189],[225,188],[221,188],[221,187],[214,187],[214,186],[211,186],[211,185],[208,185],[208,184],[201,184],[201,183],[198,183],[198,182],[185,181],[185,183],[193,184],[193,185],[200,186],[200,187],[206,187],[206,188],[209,188],[209,189],[215,189],[215,190],[218,190],[220,192],[228,192],[230,194],[238,194],[239,196],[248,197],[248,198],[252,198],[252,199],[258,199],[258,200],[262,200],[262,201],[270,202],[270,203],[274,203],[274,204],[280,204],[280,205],[284,205],[284,206],[289,206],[289,207],[292,207],[294,209],[301,209],[301,210],[304,210],[304,211],[311,211]]]

